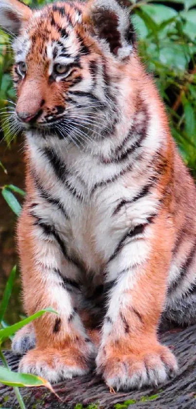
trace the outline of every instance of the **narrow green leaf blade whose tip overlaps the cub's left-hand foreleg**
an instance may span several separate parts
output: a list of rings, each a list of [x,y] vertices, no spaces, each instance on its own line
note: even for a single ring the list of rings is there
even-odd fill
[[[56,311],[54,311],[53,308],[45,308],[42,309],[41,311],[37,311],[34,315],[31,315],[28,318],[25,318],[22,321],[19,321],[17,324],[11,325],[10,327],[4,328],[4,329],[0,329],[0,344],[2,344],[2,342],[8,338],[10,335],[14,334],[16,331],[18,331],[18,329],[24,327],[25,325],[29,324],[30,322],[36,320],[36,318],[41,317],[45,312],[52,312],[54,314],[58,313]]]

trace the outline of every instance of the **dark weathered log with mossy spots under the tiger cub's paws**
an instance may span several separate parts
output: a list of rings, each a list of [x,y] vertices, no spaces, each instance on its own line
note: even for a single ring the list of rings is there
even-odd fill
[[[58,383],[55,392],[59,401],[44,388],[21,388],[26,408],[74,409],[76,404],[88,407],[97,404],[99,409],[196,409],[196,325],[185,329],[171,329],[160,334],[160,340],[168,345],[178,358],[179,372],[175,379],[168,380],[157,389],[146,388],[128,393],[110,393],[102,379],[94,372],[88,376]],[[18,368],[19,357],[5,351],[13,370]],[[127,400],[130,400],[123,405]],[[0,386],[0,408],[18,409],[13,389]]]

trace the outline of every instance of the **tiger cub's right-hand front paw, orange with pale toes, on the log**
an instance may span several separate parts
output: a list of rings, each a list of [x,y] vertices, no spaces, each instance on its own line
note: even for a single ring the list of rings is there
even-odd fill
[[[159,344],[137,355],[100,351],[96,361],[97,372],[102,373],[108,387],[116,390],[157,387],[178,370],[174,355]]]

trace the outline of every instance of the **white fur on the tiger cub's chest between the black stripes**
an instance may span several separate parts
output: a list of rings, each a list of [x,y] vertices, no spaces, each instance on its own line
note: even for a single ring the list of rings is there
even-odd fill
[[[138,169],[137,164],[126,172],[125,177],[119,176],[114,182],[98,186],[93,192],[95,184],[119,175],[125,164],[101,164],[97,157],[75,147],[71,149],[62,151],[60,145],[55,146],[58,156],[69,169],[69,183],[81,194],[79,198],[72,195],[56,177],[40,148],[35,143],[31,145],[32,160],[36,164],[37,174],[41,175],[42,185],[53,198],[60,199],[69,218],[65,219],[59,210],[42,202],[36,212],[46,223],[55,226],[70,255],[82,260],[87,270],[99,274],[125,233],[135,225],[145,223],[149,215],[156,211],[158,201],[151,195],[137,201],[137,204],[131,203],[140,186],[145,184],[143,168]],[[122,199],[130,200],[130,204],[114,215]]]

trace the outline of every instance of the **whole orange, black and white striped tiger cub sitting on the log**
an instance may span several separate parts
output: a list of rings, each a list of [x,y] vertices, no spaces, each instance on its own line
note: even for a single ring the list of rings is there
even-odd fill
[[[115,0],[0,0],[0,24],[25,134],[24,308],[58,312],[18,332],[19,370],[57,382],[96,362],[108,387],[157,386],[178,370],[161,315],[196,322],[196,187],[129,15]]]

